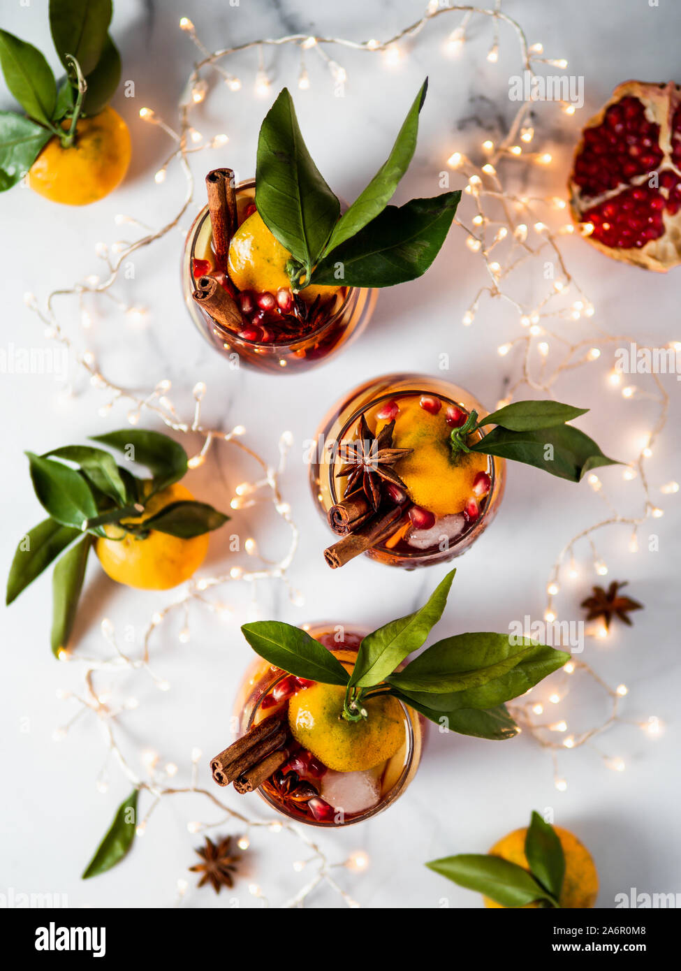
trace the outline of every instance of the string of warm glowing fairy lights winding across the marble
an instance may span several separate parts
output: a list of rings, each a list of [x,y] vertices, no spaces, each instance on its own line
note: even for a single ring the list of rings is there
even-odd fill
[[[201,465],[208,452],[218,443],[246,453],[259,468],[258,478],[253,482],[245,482],[236,487],[235,495],[231,500],[232,508],[239,510],[255,506],[258,503],[271,503],[277,515],[289,528],[290,533],[289,550],[279,560],[272,561],[263,556],[257,549],[255,539],[250,538],[245,542],[244,549],[249,557],[255,560],[257,564],[255,568],[246,569],[242,566],[233,566],[224,574],[189,581],[184,592],[176,600],[153,614],[144,631],[139,653],[124,653],[121,650],[114,624],[107,618],[101,622],[102,636],[109,652],[106,656],[86,657],[81,653],[63,653],[63,660],[77,662],[83,667],[85,687],[82,693],[60,692],[60,696],[71,699],[78,707],[74,718],[57,729],[54,737],[56,740],[65,737],[71,725],[86,713],[97,720],[105,740],[107,762],[110,758],[113,758],[128,781],[150,796],[151,801],[146,810],[146,815],[137,827],[137,833],[140,836],[144,834],[153,812],[162,801],[175,795],[194,794],[201,796],[209,807],[218,809],[222,815],[219,820],[215,821],[188,822],[187,829],[190,833],[197,833],[209,828],[213,829],[229,822],[236,823],[243,830],[242,835],[238,838],[238,845],[243,850],[250,845],[250,835],[253,835],[253,832],[258,829],[262,830],[262,828],[271,832],[285,833],[300,840],[309,855],[305,859],[296,861],[293,864],[293,869],[296,872],[302,872],[304,869],[310,868],[315,872],[314,876],[287,902],[286,906],[290,907],[302,906],[309,895],[321,885],[335,890],[348,906],[358,906],[357,901],[334,878],[334,868],[347,867],[359,873],[369,864],[366,854],[357,852],[341,862],[332,863],[328,856],[323,853],[319,844],[311,840],[303,829],[286,821],[250,818],[231,809],[213,791],[198,786],[198,761],[201,758],[201,753],[198,750],[191,753],[190,779],[186,786],[174,787],[171,785],[172,779],[179,772],[178,766],[172,762],[163,762],[161,756],[151,750],[145,750],[141,753],[145,774],[139,774],[132,767],[129,758],[123,753],[115,731],[119,719],[124,716],[125,712],[138,707],[139,701],[130,696],[120,703],[115,702],[112,700],[114,694],[111,685],[101,688],[95,687],[95,679],[102,673],[108,675],[125,673],[128,676],[136,674],[151,678],[153,684],[159,690],[168,690],[170,686],[167,681],[160,677],[151,665],[153,635],[171,615],[180,615],[183,618],[183,625],[179,638],[181,642],[187,642],[190,638],[189,608],[192,605],[206,608],[215,613],[229,614],[228,605],[207,596],[210,590],[216,590],[234,582],[246,582],[252,584],[255,591],[257,581],[272,579],[288,586],[289,596],[293,603],[302,604],[302,595],[289,585],[287,575],[297,548],[298,529],[291,518],[289,503],[285,500],[280,488],[280,478],[286,466],[286,457],[292,443],[292,436],[286,431],[282,434],[279,440],[278,461],[276,464],[270,465],[242,441],[245,434],[245,428],[242,425],[236,425],[230,431],[224,432],[219,429],[208,428],[202,424],[201,402],[206,393],[206,386],[202,382],[194,385],[194,415],[190,421],[185,421],[179,417],[169,397],[171,385],[167,379],[159,381],[147,393],[137,393],[110,381],[102,373],[95,354],[86,348],[80,350],[78,342],[66,332],[59,322],[55,302],[57,298],[62,297],[70,297],[77,301],[85,334],[89,331],[93,322],[90,315],[91,302],[97,298],[102,303],[104,299],[108,300],[120,313],[125,314],[133,322],[139,322],[146,318],[148,309],[130,306],[121,300],[115,290],[115,285],[119,280],[121,268],[130,254],[153,245],[156,240],[170,233],[179,226],[181,219],[186,214],[187,208],[193,200],[194,191],[189,157],[198,151],[219,149],[228,141],[226,134],[204,139],[191,122],[193,119],[192,111],[206,99],[211,90],[208,81],[211,73],[221,83],[225,84],[230,92],[236,93],[242,90],[243,84],[240,78],[224,66],[225,62],[231,63],[230,58],[234,55],[248,50],[255,51],[254,93],[256,97],[267,97],[270,93],[270,77],[265,67],[263,51],[282,46],[292,46],[299,52],[300,68],[297,84],[301,90],[311,87],[309,62],[313,56],[320,58],[330,75],[332,84],[345,84],[347,72],[330,56],[329,50],[365,51],[381,58],[384,66],[393,70],[408,56],[408,50],[414,38],[426,25],[437,18],[450,15],[458,16],[459,22],[445,39],[444,53],[446,56],[454,56],[458,53],[468,38],[471,24],[488,19],[493,28],[492,44],[487,53],[487,59],[490,63],[494,64],[498,60],[499,28],[507,27],[515,33],[523,69],[528,71],[532,77],[535,77],[537,68],[555,67],[564,70],[567,67],[567,62],[563,59],[544,56],[541,44],[528,44],[526,34],[519,23],[502,12],[501,0],[495,0],[494,6],[490,9],[468,5],[440,5],[437,0],[431,0],[423,17],[407,25],[385,41],[370,39],[357,42],[339,37],[292,34],[278,38],[262,38],[216,51],[206,48],[198,38],[191,20],[188,17],[182,17],[180,29],[194,43],[199,51],[200,58],[194,64],[187,78],[187,84],[178,105],[178,126],[174,128],[169,125],[152,108],[142,108],[139,113],[143,121],[157,126],[173,143],[172,151],[169,152],[166,160],[154,175],[154,182],[159,185],[163,184],[168,167],[173,162],[177,162],[186,180],[185,195],[180,208],[172,218],[158,229],[153,229],[130,216],[120,215],[117,217],[117,224],[136,229],[141,232],[141,235],[134,242],[119,240],[111,245],[105,243],[96,245],[95,252],[106,266],[106,274],[103,279],[98,276],[88,276],[85,277],[83,282],[53,291],[47,298],[45,307],[39,305],[33,294],[26,295],[27,306],[38,315],[45,325],[46,337],[60,344],[80,365],[89,383],[100,389],[106,396],[105,403],[99,409],[101,416],[108,415],[112,409],[121,405],[127,409],[127,419],[130,424],[136,424],[143,414],[149,414],[151,417],[162,421],[176,433],[191,437],[192,441],[198,439],[200,448],[197,451],[194,450],[189,459],[191,468]],[[575,106],[573,104],[569,102],[559,102],[558,104],[567,116],[574,114]],[[561,214],[565,210],[565,200],[558,197],[544,199],[520,195],[505,188],[501,181],[497,167],[508,165],[512,170],[514,163],[539,167],[548,166],[552,163],[550,152],[533,148],[535,139],[532,125],[533,107],[534,103],[521,102],[518,113],[509,125],[506,134],[497,142],[486,139],[480,147],[480,157],[477,160],[467,157],[460,151],[455,151],[447,159],[448,166],[464,180],[464,199],[469,203],[468,208],[472,211],[472,216],[468,222],[465,222],[459,214],[457,224],[465,234],[465,245],[468,250],[477,253],[483,260],[488,276],[487,284],[479,289],[461,322],[464,326],[473,324],[481,302],[487,298],[503,301],[511,307],[517,316],[520,327],[516,336],[513,336],[507,343],[498,348],[498,353],[501,356],[506,356],[509,353],[515,355],[520,352],[522,363],[519,378],[508,388],[506,397],[503,401],[498,402],[497,407],[507,403],[513,394],[524,385],[534,391],[553,395],[556,383],[562,374],[575,368],[592,367],[604,349],[617,347],[624,341],[630,341],[630,338],[609,335],[595,325],[593,321],[596,314],[594,305],[567,270],[561,249],[562,238],[573,233],[574,227],[572,223],[565,223],[564,221],[557,227],[554,226],[556,218],[561,218]],[[520,274],[520,271],[528,266],[531,260],[546,260],[547,257],[550,257],[556,267],[558,276],[550,281],[546,294],[534,300],[532,306],[528,306],[522,300],[513,296],[510,287],[516,274]],[[533,279],[536,279],[536,277],[535,274]],[[573,334],[574,328],[585,320],[589,321],[590,332]],[[674,350],[681,350],[681,345],[674,345]],[[637,456],[624,470],[625,479],[628,482],[636,481],[642,489],[641,511],[636,516],[621,514],[609,498],[601,480],[595,474],[589,477],[589,484],[605,503],[607,515],[604,519],[573,536],[559,553],[550,571],[546,586],[547,603],[544,619],[548,623],[557,620],[556,598],[561,590],[563,574],[566,574],[568,579],[572,580],[577,579],[579,575],[576,548],[581,549],[581,545],[584,544],[588,546],[593,557],[596,576],[602,577],[607,574],[608,568],[602,557],[596,552],[595,534],[610,525],[626,526],[631,531],[630,549],[633,551],[636,545],[637,531],[642,523],[663,515],[663,510],[654,501],[653,488],[648,481],[645,462],[651,456],[652,449],[663,431],[668,408],[668,396],[660,376],[653,374],[650,378],[653,385],[653,390],[650,392],[643,391],[635,385],[626,385],[620,388],[622,375],[616,368],[609,372],[606,379],[607,385],[611,389],[617,390],[619,388],[621,390],[623,398],[628,399],[633,395],[647,397],[655,401],[659,409],[658,417],[650,432],[640,443]],[[663,494],[670,495],[678,491],[678,488],[677,483],[671,482],[663,485],[661,491]],[[604,626],[587,630],[588,636],[598,639],[603,638],[606,634],[607,630]],[[591,679],[607,699],[609,709],[602,721],[581,733],[570,733],[564,719],[543,720],[547,712],[558,711],[557,706],[568,693],[569,684],[574,681],[575,675]],[[608,686],[588,664],[578,659],[568,662],[562,668],[562,672],[556,676],[556,679],[559,681],[559,686],[552,688],[553,693],[548,700],[540,701],[526,698],[521,704],[514,707],[513,714],[523,730],[550,753],[554,761],[556,787],[563,790],[567,783],[559,775],[558,753],[581,746],[593,746],[596,735],[611,727],[615,722],[625,723],[627,720],[621,717],[619,706],[623,697],[628,693],[628,688],[625,685],[614,688]],[[560,684],[561,679],[562,685]],[[556,680],[552,680],[551,684],[555,685]],[[632,723],[650,736],[659,734],[663,727],[662,722],[655,716]],[[605,764],[615,771],[622,771],[625,767],[624,760],[620,757],[610,755],[602,755],[602,757]],[[97,779],[97,787],[104,791],[107,785],[105,768]],[[261,887],[252,884],[249,889],[255,897],[267,904],[267,898]],[[184,878],[178,881],[177,894],[177,902],[181,904],[187,895],[187,881]]]

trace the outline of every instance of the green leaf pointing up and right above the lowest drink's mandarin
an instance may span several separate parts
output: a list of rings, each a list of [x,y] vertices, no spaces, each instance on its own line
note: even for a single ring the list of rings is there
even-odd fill
[[[392,674],[407,654],[420,648],[430,630],[442,617],[456,570],[451,570],[431,593],[426,604],[413,614],[379,627],[367,634],[359,645],[351,685],[380,685]]]

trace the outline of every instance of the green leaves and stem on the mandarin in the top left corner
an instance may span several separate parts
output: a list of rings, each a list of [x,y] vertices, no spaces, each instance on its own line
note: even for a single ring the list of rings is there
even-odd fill
[[[0,112],[0,191],[23,177],[52,136],[70,148],[79,117],[96,115],[113,96],[120,55],[109,36],[112,12],[112,0],[50,0],[51,37],[66,71],[58,86],[40,50],[0,30],[0,67],[26,116]]]

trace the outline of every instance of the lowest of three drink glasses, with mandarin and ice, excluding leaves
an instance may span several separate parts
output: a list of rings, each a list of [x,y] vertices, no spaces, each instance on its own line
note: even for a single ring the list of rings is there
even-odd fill
[[[305,629],[352,671],[364,632],[341,624]],[[253,735],[258,724],[272,723],[275,734],[270,737],[276,741],[277,725],[282,726],[286,760],[280,746],[272,764],[281,764],[257,791],[292,820],[341,826],[370,819],[387,809],[416,774],[424,720],[395,698],[376,698],[365,730],[329,714],[343,690],[295,678],[260,657],[239,688],[235,716],[240,737]]]

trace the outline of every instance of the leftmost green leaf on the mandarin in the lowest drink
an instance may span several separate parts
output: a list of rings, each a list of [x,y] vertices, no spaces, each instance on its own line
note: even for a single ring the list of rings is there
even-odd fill
[[[256,620],[241,628],[255,653],[298,678],[324,685],[347,685],[341,662],[305,630],[279,620]]]

